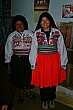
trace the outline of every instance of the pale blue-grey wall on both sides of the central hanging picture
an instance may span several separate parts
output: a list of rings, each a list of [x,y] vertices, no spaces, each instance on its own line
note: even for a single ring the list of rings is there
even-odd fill
[[[29,29],[34,30],[36,23],[33,21],[33,2],[34,0],[12,0],[11,15],[16,14],[24,15],[29,23]],[[56,22],[69,22],[73,21],[73,18],[62,18],[62,5],[73,4],[73,0],[50,0],[49,12],[53,16]]]

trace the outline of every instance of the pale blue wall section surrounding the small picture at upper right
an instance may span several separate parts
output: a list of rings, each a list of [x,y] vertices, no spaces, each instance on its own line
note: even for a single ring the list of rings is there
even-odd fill
[[[73,4],[73,0],[50,0],[49,12],[56,22],[73,22],[73,18],[62,18],[62,5]]]

